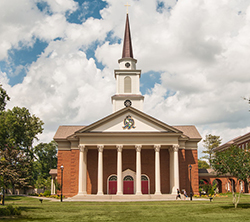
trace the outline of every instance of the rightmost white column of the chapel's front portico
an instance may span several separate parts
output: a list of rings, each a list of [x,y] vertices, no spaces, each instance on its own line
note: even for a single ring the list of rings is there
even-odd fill
[[[178,151],[178,144],[174,144],[170,149],[170,189],[172,194],[176,194],[177,189],[180,189]]]

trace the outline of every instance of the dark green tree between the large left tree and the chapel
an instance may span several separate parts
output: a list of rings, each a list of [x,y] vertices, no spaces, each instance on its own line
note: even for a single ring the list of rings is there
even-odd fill
[[[50,186],[50,169],[57,167],[57,143],[40,143],[34,148],[36,187],[48,189]]]

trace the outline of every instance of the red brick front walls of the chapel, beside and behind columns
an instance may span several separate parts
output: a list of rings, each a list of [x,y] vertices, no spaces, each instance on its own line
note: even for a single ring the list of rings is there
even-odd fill
[[[170,193],[170,164],[168,149],[160,151],[160,173],[161,173],[161,192]],[[78,172],[79,172],[79,150],[58,151],[58,182],[61,182],[60,166],[63,164],[63,194],[67,197],[78,193]],[[179,150],[179,175],[180,190],[190,191],[190,171],[189,165],[192,165],[192,189],[194,194],[198,194],[198,160],[197,150]],[[130,169],[136,171],[136,151],[123,149],[122,151],[122,170]],[[97,168],[98,152],[97,149],[89,149],[87,153],[87,193],[97,193]],[[117,171],[117,151],[116,149],[104,149],[103,152],[103,191],[107,194],[107,180]],[[150,194],[155,192],[155,151],[154,149],[141,150],[141,173],[149,177]],[[60,193],[60,192],[58,192]]]

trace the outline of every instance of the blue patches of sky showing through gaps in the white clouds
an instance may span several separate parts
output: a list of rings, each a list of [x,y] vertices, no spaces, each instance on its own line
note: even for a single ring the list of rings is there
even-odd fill
[[[108,6],[107,2],[102,0],[94,1],[77,1],[78,9],[74,12],[65,13],[65,18],[69,23],[82,24],[89,17],[95,19],[101,19],[100,10]],[[161,11],[165,5],[164,2],[157,3],[157,11]],[[37,8],[41,12],[45,12],[48,15],[53,15],[50,6],[45,1],[39,1],[36,3]],[[61,40],[61,37],[58,36],[53,41]],[[6,72],[9,77],[9,84],[14,86],[18,83],[22,83],[23,78],[26,76],[28,67],[35,62],[37,58],[41,55],[42,52],[47,48],[48,42],[43,41],[39,38],[33,39],[34,43],[31,46],[25,46],[22,42],[19,42],[18,48],[13,48],[8,51],[8,60],[3,60],[0,62],[1,70]],[[121,43],[122,39],[113,37],[112,31],[110,31],[105,41],[109,41],[110,44]],[[95,60],[96,66],[99,69],[103,69],[104,65],[95,57],[95,50],[98,46],[102,45],[103,42],[95,41],[88,48],[85,49],[85,53],[88,59],[93,58]],[[144,73],[141,78],[141,92],[146,94],[147,91],[150,91],[154,87],[155,83],[160,83],[160,73],[155,71],[149,71]]]

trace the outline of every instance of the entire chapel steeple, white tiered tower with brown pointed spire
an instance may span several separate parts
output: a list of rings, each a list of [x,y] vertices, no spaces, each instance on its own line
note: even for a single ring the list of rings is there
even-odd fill
[[[132,41],[127,14],[123,42],[122,58],[118,60],[119,69],[114,70],[116,94],[112,96],[113,112],[132,106],[143,110],[144,96],[140,92],[141,70],[136,69],[137,60],[133,58]]]

